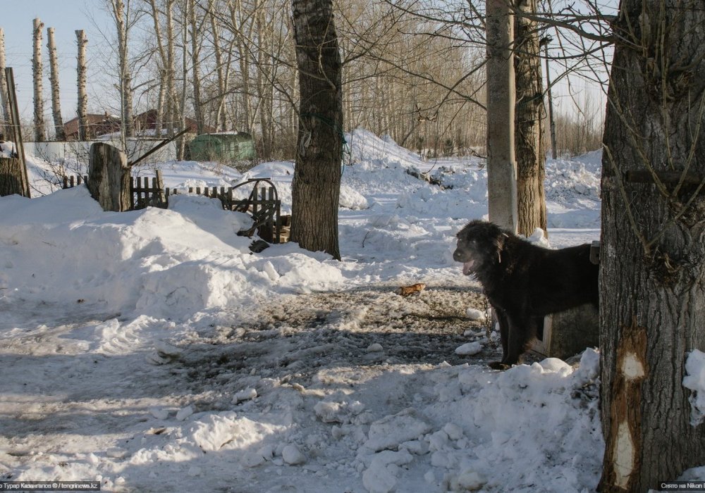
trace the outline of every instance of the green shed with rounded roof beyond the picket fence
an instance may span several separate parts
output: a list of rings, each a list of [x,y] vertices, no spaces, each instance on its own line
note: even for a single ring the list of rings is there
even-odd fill
[[[218,132],[198,135],[188,144],[194,161],[235,163],[257,157],[255,139],[247,132]]]

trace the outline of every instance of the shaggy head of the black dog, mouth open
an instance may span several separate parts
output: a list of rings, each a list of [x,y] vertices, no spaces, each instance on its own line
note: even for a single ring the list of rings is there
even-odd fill
[[[458,246],[453,252],[453,260],[462,262],[463,274],[474,274],[501,263],[508,235],[498,225],[483,220],[470,221],[457,236]]]

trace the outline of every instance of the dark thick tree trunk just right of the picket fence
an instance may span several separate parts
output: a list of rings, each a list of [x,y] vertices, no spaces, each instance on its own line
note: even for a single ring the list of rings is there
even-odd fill
[[[332,0],[293,0],[300,111],[291,240],[340,259],[338,199],[343,151],[341,56]]]

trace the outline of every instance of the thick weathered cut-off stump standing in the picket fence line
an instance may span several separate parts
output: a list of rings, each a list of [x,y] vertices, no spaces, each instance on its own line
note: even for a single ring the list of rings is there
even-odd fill
[[[130,167],[125,153],[110,144],[96,142],[90,146],[88,189],[104,211],[129,211]]]

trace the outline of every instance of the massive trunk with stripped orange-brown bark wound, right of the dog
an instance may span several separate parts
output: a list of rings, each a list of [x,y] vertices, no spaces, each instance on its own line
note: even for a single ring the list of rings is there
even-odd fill
[[[701,6],[622,0],[615,24],[602,165],[603,492],[659,489],[705,463],[705,426],[690,423],[682,385],[688,353],[705,349],[705,190],[663,174],[705,173]],[[640,171],[650,183],[632,179]]]

